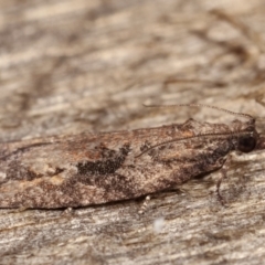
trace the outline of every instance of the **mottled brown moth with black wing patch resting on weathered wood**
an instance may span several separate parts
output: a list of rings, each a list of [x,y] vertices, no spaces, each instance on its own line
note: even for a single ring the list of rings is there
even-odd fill
[[[256,148],[259,135],[251,115],[189,106],[240,119],[1,142],[0,208],[74,208],[139,198],[222,168],[231,151]]]

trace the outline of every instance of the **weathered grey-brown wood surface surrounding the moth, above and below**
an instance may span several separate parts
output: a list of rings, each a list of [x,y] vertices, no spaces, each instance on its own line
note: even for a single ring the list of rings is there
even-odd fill
[[[231,117],[265,132],[264,0],[0,0],[0,140]],[[0,264],[263,264],[265,151],[142,203],[0,210]]]

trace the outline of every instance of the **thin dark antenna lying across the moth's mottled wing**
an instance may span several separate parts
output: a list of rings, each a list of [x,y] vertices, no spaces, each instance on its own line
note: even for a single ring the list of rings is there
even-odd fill
[[[182,141],[182,140],[187,140],[187,139],[194,139],[194,138],[200,138],[200,137],[216,137],[216,136],[237,136],[237,135],[241,135],[241,134],[246,134],[245,130],[242,130],[242,131],[229,131],[229,132],[222,132],[222,134],[202,134],[202,135],[195,135],[195,136],[190,136],[190,137],[183,137],[183,138],[174,138],[174,139],[171,139],[171,140],[167,140],[167,141],[162,141],[162,142],[159,142],[155,146],[151,146],[150,148],[144,150],[142,152],[140,152],[139,155],[137,155],[135,158],[139,158],[140,156],[142,156],[144,153],[150,151],[151,149],[153,148],[157,148],[159,146],[163,146],[163,145],[168,145],[168,144],[171,144],[171,142],[178,142],[178,141]],[[252,131],[250,131],[250,134],[252,134]]]

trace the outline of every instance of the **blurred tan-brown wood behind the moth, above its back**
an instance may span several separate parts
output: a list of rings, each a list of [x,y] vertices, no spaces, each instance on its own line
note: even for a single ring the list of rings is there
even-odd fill
[[[0,138],[223,116],[142,103],[261,116],[264,12],[263,0],[1,0]]]

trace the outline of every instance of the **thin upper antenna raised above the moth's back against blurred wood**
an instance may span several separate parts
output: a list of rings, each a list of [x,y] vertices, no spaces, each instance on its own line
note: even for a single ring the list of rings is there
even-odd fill
[[[225,108],[221,108],[221,107],[215,107],[215,106],[211,106],[211,105],[206,105],[206,104],[173,104],[173,105],[146,105],[144,104],[145,107],[165,107],[165,108],[171,108],[171,107],[205,107],[205,108],[212,108],[212,109],[216,109],[233,116],[240,116],[240,117],[244,117],[247,118],[248,120],[251,120],[252,124],[255,124],[255,118],[253,116],[251,116],[250,114],[245,114],[245,113],[235,113]]]

